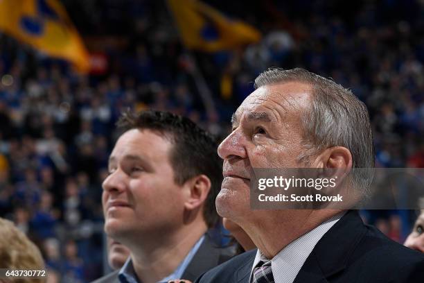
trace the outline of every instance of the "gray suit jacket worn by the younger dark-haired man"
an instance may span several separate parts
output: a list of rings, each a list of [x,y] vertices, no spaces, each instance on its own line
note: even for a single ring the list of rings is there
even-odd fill
[[[209,234],[205,236],[202,245],[200,245],[193,259],[191,259],[182,278],[179,279],[193,282],[202,273],[209,271],[211,268],[233,257],[234,253],[231,248],[219,248],[218,245],[213,242]],[[113,273],[100,277],[92,283],[119,283],[118,273],[119,271],[114,271]]]

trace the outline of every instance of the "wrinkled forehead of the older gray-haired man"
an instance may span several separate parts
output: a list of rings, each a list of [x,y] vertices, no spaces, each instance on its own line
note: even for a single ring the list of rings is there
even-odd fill
[[[233,121],[242,117],[263,116],[264,119],[281,120],[294,118],[310,107],[311,87],[291,82],[259,87],[249,94],[233,115]]]

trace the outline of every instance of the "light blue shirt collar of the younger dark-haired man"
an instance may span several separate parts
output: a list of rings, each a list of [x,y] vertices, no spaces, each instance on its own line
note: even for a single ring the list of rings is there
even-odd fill
[[[184,260],[179,264],[179,266],[175,269],[173,273],[168,275],[167,277],[161,279],[158,281],[160,282],[168,282],[169,280],[175,280],[175,279],[182,279],[182,275],[184,271],[186,270],[188,264],[190,264],[191,259],[193,259],[194,255],[196,254],[197,250],[199,250],[200,246],[202,245],[204,241],[204,235],[195,243],[193,248],[188,252],[186,257],[184,257]],[[141,281],[138,279],[135,271],[134,266],[132,266],[132,260],[131,257],[128,257],[127,261],[125,261],[125,264],[122,266],[121,270],[118,273],[118,280],[120,283],[140,283]]]

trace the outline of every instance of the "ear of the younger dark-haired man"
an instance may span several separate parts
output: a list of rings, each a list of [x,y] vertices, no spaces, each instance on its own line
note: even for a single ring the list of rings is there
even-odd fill
[[[184,184],[184,208],[194,210],[202,206],[211,189],[211,180],[206,175],[197,175]]]

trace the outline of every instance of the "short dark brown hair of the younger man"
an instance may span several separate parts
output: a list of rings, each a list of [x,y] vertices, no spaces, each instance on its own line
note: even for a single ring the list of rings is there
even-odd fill
[[[170,163],[178,185],[197,175],[209,177],[211,190],[204,205],[204,219],[212,228],[218,222],[215,198],[222,183],[222,160],[217,153],[217,141],[190,119],[170,112],[126,111],[116,124],[121,130],[147,129],[170,139],[174,145],[170,152]]]

